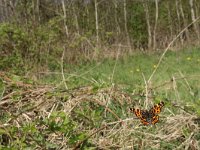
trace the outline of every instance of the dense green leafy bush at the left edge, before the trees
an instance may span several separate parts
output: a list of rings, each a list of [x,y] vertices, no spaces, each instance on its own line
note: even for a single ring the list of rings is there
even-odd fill
[[[55,56],[59,57],[62,49],[52,49],[59,39],[60,30],[55,25],[58,21],[53,18],[44,26],[33,29],[30,24],[30,31],[16,24],[0,24],[1,69],[24,74],[35,67],[59,68]]]

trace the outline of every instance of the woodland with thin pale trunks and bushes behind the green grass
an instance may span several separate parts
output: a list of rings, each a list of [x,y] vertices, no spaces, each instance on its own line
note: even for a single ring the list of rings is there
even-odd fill
[[[198,19],[200,4],[193,0],[2,0],[0,7],[0,66],[20,68],[24,74],[58,68],[63,51],[65,63],[116,57],[119,45],[120,55],[162,51]],[[198,32],[197,21],[173,43],[173,49],[199,44]]]

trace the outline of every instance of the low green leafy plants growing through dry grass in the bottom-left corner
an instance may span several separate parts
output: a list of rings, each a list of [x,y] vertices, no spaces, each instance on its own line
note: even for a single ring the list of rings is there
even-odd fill
[[[37,128],[38,125],[47,126],[46,130],[40,132]],[[53,112],[50,118],[45,118],[44,120],[35,120],[31,123],[24,123],[21,128],[11,127],[6,130],[0,130],[0,135],[8,139],[15,137],[15,135],[21,134],[19,138],[13,138],[10,143],[9,140],[7,143],[4,143],[4,148],[13,148],[13,149],[34,149],[39,144],[43,148],[58,148],[59,145],[51,143],[47,140],[48,134],[50,133],[63,134],[69,145],[74,145],[77,141],[84,140],[86,134],[84,132],[76,131],[76,125],[66,116],[64,112]],[[8,134],[9,133],[9,134]],[[28,141],[32,141],[32,144],[29,145]],[[0,141],[1,143],[3,141]],[[6,141],[4,141],[6,142]]]

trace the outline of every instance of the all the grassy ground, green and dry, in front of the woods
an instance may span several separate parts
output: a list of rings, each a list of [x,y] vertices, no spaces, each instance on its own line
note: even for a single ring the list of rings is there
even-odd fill
[[[1,72],[0,148],[199,149],[199,50],[167,53],[147,87],[158,59],[135,54],[65,66],[65,74],[36,81]],[[129,111],[160,101],[156,125]]]

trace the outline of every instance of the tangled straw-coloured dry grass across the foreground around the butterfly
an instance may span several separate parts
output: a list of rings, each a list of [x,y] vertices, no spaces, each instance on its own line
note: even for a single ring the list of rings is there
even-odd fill
[[[23,133],[21,130],[24,125],[35,123],[36,129],[45,134],[45,141],[56,144],[57,149],[83,146],[98,149],[200,149],[198,117],[182,109],[174,114],[165,106],[158,124],[143,126],[128,111],[136,101],[119,87],[80,87],[66,91],[52,86],[14,82],[5,78],[3,73],[1,78],[5,84],[0,101],[2,146],[12,145],[16,139],[25,137],[26,146],[35,144],[36,149],[47,149],[43,141],[34,138],[34,132]],[[97,116],[97,123],[96,116],[90,114],[98,109],[101,116]],[[64,112],[76,124],[72,132],[84,132],[86,136],[70,144],[71,137],[64,132],[47,132],[49,124],[40,121],[52,119],[54,112]],[[52,120],[56,124],[63,122],[61,116]],[[15,127],[13,134],[11,129]]]

